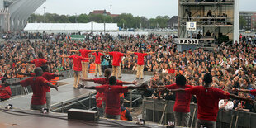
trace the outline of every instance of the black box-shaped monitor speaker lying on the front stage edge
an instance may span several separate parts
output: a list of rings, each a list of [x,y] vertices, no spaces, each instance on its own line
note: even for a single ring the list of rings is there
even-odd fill
[[[81,109],[69,109],[68,119],[83,120],[83,121],[98,121],[98,111],[89,111]]]

